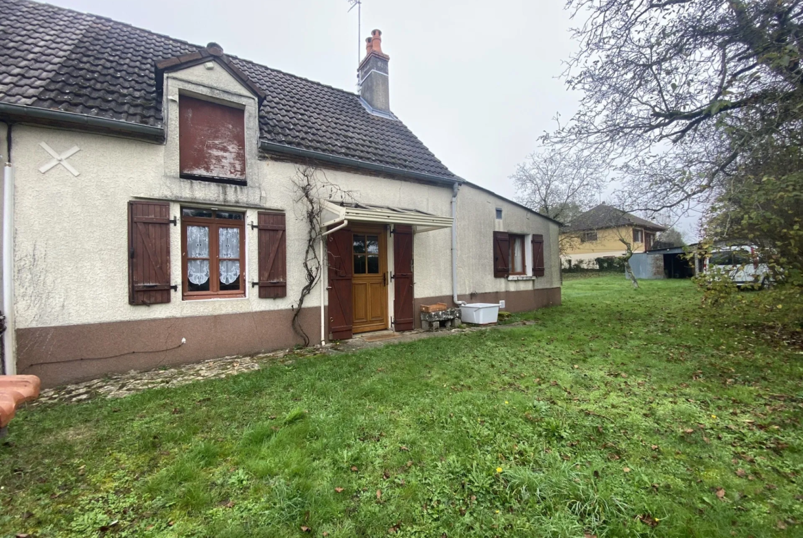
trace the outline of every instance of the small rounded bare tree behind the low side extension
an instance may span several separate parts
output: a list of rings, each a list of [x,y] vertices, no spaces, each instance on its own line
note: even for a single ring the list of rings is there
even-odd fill
[[[550,148],[531,153],[510,177],[516,200],[568,224],[595,204],[606,176],[596,157]]]

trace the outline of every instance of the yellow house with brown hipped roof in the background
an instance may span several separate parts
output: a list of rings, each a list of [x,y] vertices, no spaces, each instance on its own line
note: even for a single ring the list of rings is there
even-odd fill
[[[649,250],[655,234],[666,226],[623,212],[612,205],[599,204],[560,229],[561,257],[565,264],[596,267],[597,258],[624,256],[626,245],[633,252]]]

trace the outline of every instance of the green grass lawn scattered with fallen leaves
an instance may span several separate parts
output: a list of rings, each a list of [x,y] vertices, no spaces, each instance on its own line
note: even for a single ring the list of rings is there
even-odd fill
[[[688,281],[516,318],[22,411],[0,536],[803,536],[800,350]]]

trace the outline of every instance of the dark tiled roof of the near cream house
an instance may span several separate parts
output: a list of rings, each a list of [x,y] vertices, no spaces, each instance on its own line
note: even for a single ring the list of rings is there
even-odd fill
[[[204,48],[28,0],[0,0],[0,13],[0,103],[161,127],[155,64]],[[455,177],[402,122],[370,114],[358,95],[228,57],[266,95],[261,140]]]

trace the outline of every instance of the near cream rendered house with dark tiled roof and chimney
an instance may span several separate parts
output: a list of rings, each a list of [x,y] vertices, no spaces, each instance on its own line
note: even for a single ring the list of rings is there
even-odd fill
[[[560,304],[559,223],[405,127],[379,30],[353,93],[214,42],[0,11],[7,374],[54,386],[412,330],[435,302]]]

